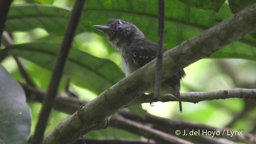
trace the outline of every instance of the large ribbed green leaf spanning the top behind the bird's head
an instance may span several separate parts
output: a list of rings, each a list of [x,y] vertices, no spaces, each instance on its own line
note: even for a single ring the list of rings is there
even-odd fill
[[[78,33],[101,32],[93,25],[105,24],[109,18],[122,18],[133,22],[150,40],[157,42],[158,3],[156,0],[88,0],[82,15]],[[170,49],[204,30],[232,16],[227,4],[218,13],[187,6],[177,0],[165,3],[164,47]],[[27,31],[41,27],[51,34],[64,34],[70,11],[50,5],[14,5],[10,9],[6,30]],[[108,45],[110,46],[110,45]],[[256,40],[246,36],[216,52],[211,58],[243,58],[255,60]]]

